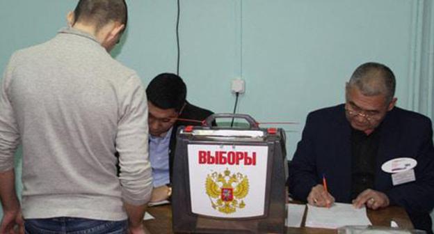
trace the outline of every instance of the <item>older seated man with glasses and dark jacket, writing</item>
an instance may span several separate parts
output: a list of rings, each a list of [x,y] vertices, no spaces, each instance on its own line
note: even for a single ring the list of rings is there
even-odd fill
[[[289,167],[289,192],[316,206],[399,205],[415,228],[432,233],[433,127],[426,116],[395,107],[395,86],[387,66],[364,63],[346,84],[345,104],[310,113]]]

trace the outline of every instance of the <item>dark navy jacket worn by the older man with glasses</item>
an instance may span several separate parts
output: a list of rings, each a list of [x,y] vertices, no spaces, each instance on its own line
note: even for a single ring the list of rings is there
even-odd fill
[[[405,208],[417,228],[431,230],[429,213],[434,207],[431,120],[394,107],[381,125],[372,189],[387,194],[391,205]],[[396,157],[417,160],[414,182],[394,186],[391,174],[381,170],[384,162]],[[307,116],[303,137],[289,168],[289,192],[294,198],[306,201],[312,187],[321,183],[323,173],[336,201],[351,203],[351,125],[346,120],[344,104],[313,111]]]

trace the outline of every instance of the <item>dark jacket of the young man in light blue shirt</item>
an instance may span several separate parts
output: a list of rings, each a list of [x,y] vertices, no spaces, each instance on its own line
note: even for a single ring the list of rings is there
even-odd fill
[[[185,119],[191,119],[191,120],[205,120],[208,116],[211,116],[213,112],[202,109],[200,107],[196,107],[193,104],[190,104],[186,102],[186,105],[184,109],[182,110],[181,114],[178,116],[178,118],[185,118]],[[175,124],[173,125],[172,129],[172,135],[170,136],[170,143],[169,143],[169,171],[170,171],[170,182],[172,182],[172,171],[173,171],[173,158],[175,157],[175,145],[176,145],[176,134],[178,127],[180,126],[187,126],[187,125],[193,125],[193,126],[200,126],[201,124],[198,122],[191,122],[186,120],[177,120]]]

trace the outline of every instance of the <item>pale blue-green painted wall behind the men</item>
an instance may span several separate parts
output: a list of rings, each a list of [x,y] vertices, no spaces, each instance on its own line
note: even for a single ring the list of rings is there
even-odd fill
[[[345,81],[366,61],[394,70],[400,107],[432,116],[431,102],[429,108],[416,103],[433,99],[431,89],[419,92],[420,84],[428,82],[423,75],[432,74],[434,66],[432,58],[423,59],[426,43],[432,53],[431,42],[424,40],[432,35],[431,0],[180,2],[180,75],[188,100],[215,112],[232,112],[230,81],[241,77],[246,93],[240,96],[239,113],[259,122],[299,123],[278,126],[287,130],[289,158],[307,113],[343,102]],[[76,3],[0,1],[0,69],[16,49],[53,37]],[[127,35],[113,55],[147,85],[160,72],[176,72],[176,1],[128,3]],[[424,68],[428,72],[420,71]]]

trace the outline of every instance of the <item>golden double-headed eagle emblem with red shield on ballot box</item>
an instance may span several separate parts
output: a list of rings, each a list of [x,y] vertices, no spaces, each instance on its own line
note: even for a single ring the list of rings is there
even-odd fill
[[[243,198],[249,192],[247,176],[241,173],[233,173],[226,169],[224,173],[211,173],[205,182],[207,195],[214,210],[225,214],[236,212],[236,208],[244,208]]]

